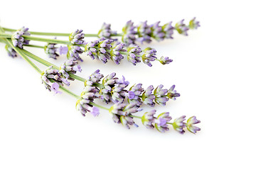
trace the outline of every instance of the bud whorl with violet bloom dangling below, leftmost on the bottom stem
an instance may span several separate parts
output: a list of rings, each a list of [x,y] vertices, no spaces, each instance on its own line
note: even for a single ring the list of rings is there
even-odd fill
[[[58,91],[60,85],[70,85],[70,82],[68,82],[67,79],[61,77],[58,69],[53,69],[53,66],[48,67],[45,71],[42,72],[41,79],[42,83],[46,86],[46,89],[53,91],[55,94],[60,93],[60,91]]]

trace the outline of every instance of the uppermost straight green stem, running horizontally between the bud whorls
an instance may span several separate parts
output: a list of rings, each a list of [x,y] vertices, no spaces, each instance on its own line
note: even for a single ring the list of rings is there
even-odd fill
[[[9,32],[15,32],[16,30],[11,28],[4,28],[4,30]],[[32,35],[50,35],[50,36],[69,36],[70,33],[43,33],[43,32],[34,32],[34,31],[28,31]],[[85,34],[85,37],[97,37],[97,34]],[[111,36],[122,36],[122,33],[118,33],[117,35],[111,35]]]

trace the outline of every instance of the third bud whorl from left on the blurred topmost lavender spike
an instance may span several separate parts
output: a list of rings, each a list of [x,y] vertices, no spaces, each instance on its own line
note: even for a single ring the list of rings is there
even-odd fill
[[[147,24],[147,21],[144,21],[137,26],[137,33],[139,38],[137,41],[142,43],[143,42],[151,42],[151,26]]]

